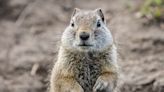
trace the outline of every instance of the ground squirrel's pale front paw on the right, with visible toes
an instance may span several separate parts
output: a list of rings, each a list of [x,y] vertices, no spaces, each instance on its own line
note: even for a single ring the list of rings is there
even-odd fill
[[[93,92],[112,92],[108,81],[98,79],[93,87]]]

